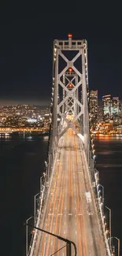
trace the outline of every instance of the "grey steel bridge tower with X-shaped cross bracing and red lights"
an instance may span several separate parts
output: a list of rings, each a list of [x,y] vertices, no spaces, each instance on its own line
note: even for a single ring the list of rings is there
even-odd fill
[[[52,87],[52,132],[53,141],[59,139],[68,128],[72,128],[83,138],[84,149],[89,150],[88,114],[88,67],[87,41],[54,40],[54,64]],[[66,115],[73,113],[68,121]],[[67,124],[64,126],[64,121]],[[79,132],[75,124],[79,124]]]

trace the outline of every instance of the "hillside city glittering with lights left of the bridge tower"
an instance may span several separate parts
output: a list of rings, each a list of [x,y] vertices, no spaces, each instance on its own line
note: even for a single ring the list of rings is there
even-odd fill
[[[18,114],[19,113],[19,114]],[[8,132],[49,132],[50,109],[36,106],[2,106],[0,112],[0,135]]]

